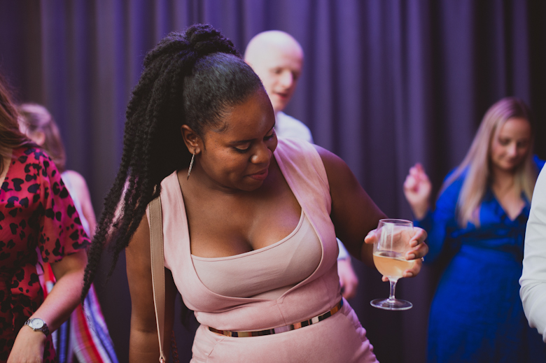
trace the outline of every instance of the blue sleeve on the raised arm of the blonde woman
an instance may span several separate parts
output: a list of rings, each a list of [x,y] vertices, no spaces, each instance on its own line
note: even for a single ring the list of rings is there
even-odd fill
[[[435,210],[428,211],[422,220],[414,220],[414,226],[421,227],[428,234],[427,264],[435,262],[444,248],[454,247],[450,232],[458,228],[456,208],[462,185],[463,178],[454,180],[438,197]]]

